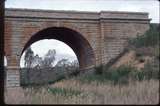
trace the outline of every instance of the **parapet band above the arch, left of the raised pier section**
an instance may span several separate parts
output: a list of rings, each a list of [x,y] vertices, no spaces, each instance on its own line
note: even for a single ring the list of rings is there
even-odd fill
[[[37,17],[37,18],[75,18],[75,19],[98,19],[95,12],[55,11],[36,9],[6,9],[5,16],[12,17]]]

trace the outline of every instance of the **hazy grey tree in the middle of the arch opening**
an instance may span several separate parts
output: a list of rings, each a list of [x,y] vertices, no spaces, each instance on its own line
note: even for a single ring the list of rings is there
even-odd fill
[[[52,67],[52,65],[55,61],[55,55],[56,55],[55,49],[49,50],[48,53],[44,57],[44,60],[42,62],[42,66],[43,67]]]

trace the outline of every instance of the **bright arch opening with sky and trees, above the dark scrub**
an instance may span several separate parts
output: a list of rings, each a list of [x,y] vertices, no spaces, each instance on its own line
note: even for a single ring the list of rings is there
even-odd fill
[[[33,52],[32,63],[29,67],[25,65],[26,52],[29,50]],[[74,51],[64,42],[55,39],[43,39],[33,43],[20,58],[21,68],[35,68],[43,67],[44,63],[50,58],[49,67],[56,67],[60,65],[76,65],[79,67],[78,59]],[[65,50],[65,52],[64,52]],[[52,61],[51,61],[52,59]]]

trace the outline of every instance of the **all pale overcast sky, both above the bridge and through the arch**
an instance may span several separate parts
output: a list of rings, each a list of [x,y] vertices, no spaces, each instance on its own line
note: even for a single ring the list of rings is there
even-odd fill
[[[159,22],[158,0],[6,0],[6,8],[27,8],[74,11],[130,11],[148,12],[151,23]],[[42,44],[43,43],[43,44]],[[43,45],[43,46],[42,46]],[[71,48],[56,41],[40,41],[31,46],[35,53],[43,56],[48,49],[55,49],[59,58],[77,59]],[[68,49],[67,49],[68,48]],[[65,53],[64,53],[65,50]]]

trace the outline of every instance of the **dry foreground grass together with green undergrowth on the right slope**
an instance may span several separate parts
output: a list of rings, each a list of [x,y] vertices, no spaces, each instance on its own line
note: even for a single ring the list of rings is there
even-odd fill
[[[45,86],[7,88],[5,101],[8,104],[158,104],[159,77],[155,75],[159,75],[159,70],[152,69],[153,65],[146,66],[150,71],[124,65],[106,71],[100,66],[97,69],[105,71]]]

